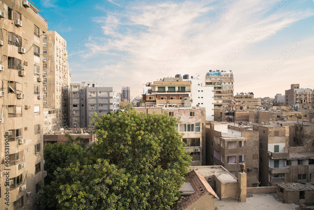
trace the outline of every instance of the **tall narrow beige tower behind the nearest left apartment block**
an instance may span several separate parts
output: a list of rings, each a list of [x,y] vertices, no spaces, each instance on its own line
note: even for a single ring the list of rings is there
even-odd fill
[[[43,35],[43,105],[56,118],[49,119],[44,133],[68,126],[68,70],[67,42],[56,32]]]

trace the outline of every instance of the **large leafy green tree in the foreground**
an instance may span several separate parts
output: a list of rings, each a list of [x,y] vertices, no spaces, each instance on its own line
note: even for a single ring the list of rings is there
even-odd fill
[[[98,141],[85,158],[57,168],[56,179],[43,189],[42,207],[173,207],[192,161],[176,131],[178,120],[133,110],[92,118]]]

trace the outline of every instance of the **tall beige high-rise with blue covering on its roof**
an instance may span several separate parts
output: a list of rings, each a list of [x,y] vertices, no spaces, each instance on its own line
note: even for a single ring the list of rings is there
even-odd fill
[[[206,73],[205,85],[214,87],[214,107],[228,107],[233,99],[233,71],[212,71]]]

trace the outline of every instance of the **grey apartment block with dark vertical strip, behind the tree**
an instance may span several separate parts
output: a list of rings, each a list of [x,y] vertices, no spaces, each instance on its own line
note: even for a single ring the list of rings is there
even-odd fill
[[[119,94],[112,87],[102,87],[96,82],[83,81],[70,83],[69,90],[69,127],[88,128],[94,122],[90,116],[117,112],[119,110]]]

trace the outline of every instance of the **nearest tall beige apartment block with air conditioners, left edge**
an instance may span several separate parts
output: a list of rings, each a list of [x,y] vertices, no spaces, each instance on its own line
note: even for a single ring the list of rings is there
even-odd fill
[[[43,35],[47,21],[28,1],[0,2],[0,207],[38,209],[44,182]]]

